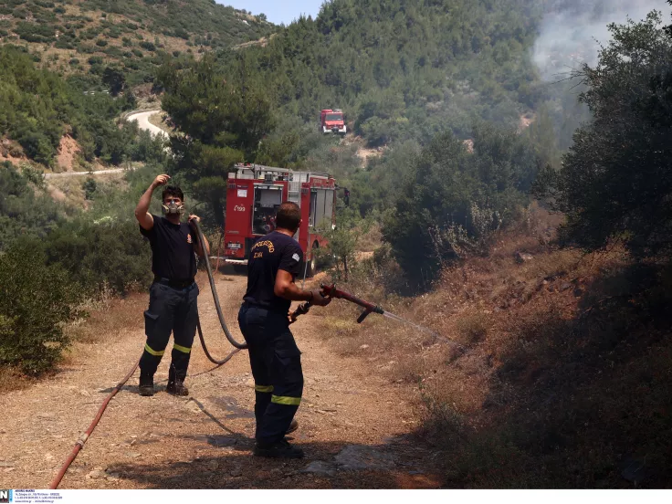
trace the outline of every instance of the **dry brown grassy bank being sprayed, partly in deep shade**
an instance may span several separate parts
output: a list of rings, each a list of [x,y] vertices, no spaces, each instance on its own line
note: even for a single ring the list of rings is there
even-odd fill
[[[372,268],[341,286],[462,348],[374,315],[357,326],[343,301],[328,308],[347,321],[338,351],[419,383],[418,434],[442,452],[447,487],[669,486],[672,269],[633,265],[618,247],[559,250],[558,222],[533,208],[490,257],[444,270],[415,299],[385,296]],[[632,463],[644,469],[631,475]]]

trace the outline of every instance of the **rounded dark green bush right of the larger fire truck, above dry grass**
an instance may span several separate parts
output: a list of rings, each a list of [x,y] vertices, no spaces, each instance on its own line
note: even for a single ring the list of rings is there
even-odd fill
[[[492,232],[527,203],[537,167],[529,141],[512,130],[479,125],[473,153],[452,133],[436,136],[384,219],[385,241],[409,278],[426,287],[446,263],[487,250]]]

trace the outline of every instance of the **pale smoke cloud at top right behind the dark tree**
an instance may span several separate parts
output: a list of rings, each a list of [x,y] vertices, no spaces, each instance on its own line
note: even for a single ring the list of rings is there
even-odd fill
[[[556,0],[541,23],[533,59],[545,80],[559,80],[572,68],[597,62],[598,42],[611,39],[610,23],[635,22],[657,10],[667,22],[670,5],[665,0]]]

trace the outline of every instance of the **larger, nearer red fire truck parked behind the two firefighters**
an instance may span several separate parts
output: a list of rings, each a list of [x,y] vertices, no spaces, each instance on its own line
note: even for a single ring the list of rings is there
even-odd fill
[[[335,226],[336,181],[328,173],[294,172],[258,164],[236,164],[228,174],[224,244],[226,262],[247,266],[249,250],[259,236],[275,229],[275,215],[284,201],[301,208],[301,226],[294,238],[306,260],[306,276],[316,272],[316,249],[326,240],[318,229]]]

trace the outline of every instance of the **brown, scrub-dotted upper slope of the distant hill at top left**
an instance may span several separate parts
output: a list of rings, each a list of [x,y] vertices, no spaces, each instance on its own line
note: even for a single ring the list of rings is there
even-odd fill
[[[164,56],[198,55],[268,35],[274,26],[214,0],[3,0],[0,39],[64,73],[116,64],[151,79]]]

